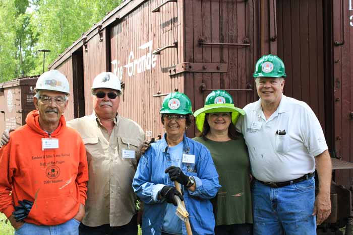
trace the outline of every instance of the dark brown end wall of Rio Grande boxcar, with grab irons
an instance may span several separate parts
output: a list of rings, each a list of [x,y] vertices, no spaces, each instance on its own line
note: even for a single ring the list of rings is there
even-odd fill
[[[254,67],[254,1],[210,1],[185,0],[185,59],[194,63],[226,63],[226,73],[187,73],[185,93],[193,103],[193,110],[203,107],[210,91],[202,92],[201,83],[206,89],[248,89],[253,86]],[[250,41],[249,47],[203,45],[206,42],[243,43]],[[234,104],[243,108],[254,100],[253,92],[229,92]],[[194,129],[188,131],[193,135]]]

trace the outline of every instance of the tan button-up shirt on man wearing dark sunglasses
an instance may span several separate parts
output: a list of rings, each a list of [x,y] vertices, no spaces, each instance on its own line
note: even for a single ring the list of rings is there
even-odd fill
[[[122,226],[136,213],[132,181],[141,146],[142,128],[134,121],[117,116],[109,136],[95,114],[68,122],[85,143],[88,160],[88,190],[83,224]],[[134,150],[135,158],[124,158],[122,151]],[[125,154],[125,156],[128,156]]]

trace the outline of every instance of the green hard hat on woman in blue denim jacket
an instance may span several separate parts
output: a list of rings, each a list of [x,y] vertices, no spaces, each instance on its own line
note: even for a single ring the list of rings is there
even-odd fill
[[[164,98],[159,113],[193,114],[191,101],[184,93],[169,93]]]

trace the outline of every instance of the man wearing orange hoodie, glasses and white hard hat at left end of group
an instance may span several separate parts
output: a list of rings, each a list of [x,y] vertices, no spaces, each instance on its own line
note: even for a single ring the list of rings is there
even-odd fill
[[[34,89],[36,110],[0,148],[0,211],[15,234],[78,234],[85,215],[88,166],[85,145],[62,115],[69,83],[57,70]]]

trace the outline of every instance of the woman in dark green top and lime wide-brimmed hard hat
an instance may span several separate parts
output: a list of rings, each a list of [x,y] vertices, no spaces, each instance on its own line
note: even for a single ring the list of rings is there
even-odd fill
[[[252,234],[250,162],[248,149],[235,124],[242,109],[234,107],[231,96],[222,90],[211,92],[204,108],[195,111],[199,137],[211,152],[222,186],[213,199],[215,234]]]

